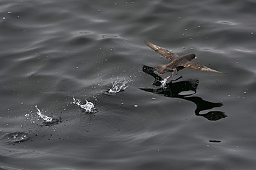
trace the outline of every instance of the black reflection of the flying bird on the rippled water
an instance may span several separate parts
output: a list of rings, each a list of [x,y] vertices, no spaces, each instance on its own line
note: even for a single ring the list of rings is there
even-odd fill
[[[161,78],[161,76],[158,76],[158,74],[154,72],[155,70],[156,69],[154,67],[143,65],[143,72],[155,78],[153,85],[161,86],[161,82],[163,81],[163,78]],[[153,88],[140,88],[140,89],[146,92],[161,94],[163,96],[167,96],[171,98],[181,98],[184,100],[192,101],[194,104],[196,104],[196,109],[194,111],[196,116],[203,116],[208,120],[219,120],[221,118],[226,117],[226,114],[224,114],[223,111],[208,111],[208,113],[206,114],[200,114],[201,111],[213,109],[214,107],[221,107],[223,104],[212,103],[210,101],[203,100],[203,98],[201,97],[192,96],[193,94],[196,94],[196,89],[199,85],[199,80],[188,79],[186,81],[179,81],[179,82],[173,83],[173,81],[177,81],[180,78],[182,78],[182,76],[180,76],[176,80],[172,80],[170,83],[167,83],[165,87],[160,87],[158,89],[153,89]],[[182,94],[182,92],[190,92],[190,94]]]

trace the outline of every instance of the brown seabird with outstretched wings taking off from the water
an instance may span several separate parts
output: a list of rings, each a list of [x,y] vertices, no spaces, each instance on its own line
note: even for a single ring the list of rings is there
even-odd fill
[[[200,65],[198,63],[192,62],[193,59],[197,59],[196,54],[185,54],[183,56],[179,56],[170,50],[166,50],[163,47],[159,47],[157,45],[154,45],[153,43],[150,43],[149,41],[144,41],[144,43],[152,48],[155,52],[158,54],[161,54],[166,59],[168,59],[169,64],[167,65],[157,65],[156,70],[159,74],[165,74],[166,72],[172,72],[172,75],[174,73],[179,72],[179,70],[182,70],[183,68],[190,68],[193,70],[200,70],[205,72],[216,72],[216,73],[223,73],[219,72],[217,70],[213,70],[209,67],[206,67],[204,65]],[[167,78],[170,78],[172,76],[168,76]]]

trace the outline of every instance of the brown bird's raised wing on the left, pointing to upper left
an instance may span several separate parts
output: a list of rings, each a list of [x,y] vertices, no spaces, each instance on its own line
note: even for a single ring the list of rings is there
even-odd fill
[[[174,61],[174,59],[176,59],[177,57],[179,57],[177,54],[170,52],[169,50],[164,49],[163,47],[159,47],[157,45],[154,45],[152,43],[150,43],[149,41],[144,41],[144,43],[149,46],[150,48],[152,48],[152,50],[154,50],[155,52],[157,52],[158,54],[161,54],[162,56],[164,56],[166,59],[168,59],[169,62]]]

